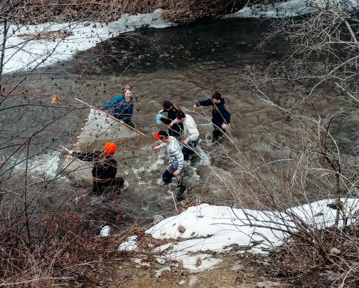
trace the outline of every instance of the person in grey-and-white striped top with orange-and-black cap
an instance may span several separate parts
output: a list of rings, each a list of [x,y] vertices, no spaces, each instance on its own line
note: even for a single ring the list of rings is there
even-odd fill
[[[165,183],[170,183],[173,177],[178,177],[178,175],[183,171],[183,153],[181,150],[181,144],[175,137],[169,136],[164,130],[156,133],[154,138],[162,142],[162,144],[155,146],[154,150],[167,147],[169,164],[165,173],[162,175],[162,179]]]

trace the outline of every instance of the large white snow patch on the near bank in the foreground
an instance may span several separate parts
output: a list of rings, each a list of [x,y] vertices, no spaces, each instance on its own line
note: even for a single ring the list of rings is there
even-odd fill
[[[359,220],[354,212],[359,209],[359,198],[341,199],[348,223]],[[336,210],[328,207],[332,199],[316,201],[284,212],[232,209],[227,206],[202,204],[160,221],[146,233],[156,239],[173,239],[153,249],[159,253],[157,261],[170,265],[174,261],[193,272],[209,269],[221,260],[208,251],[222,252],[231,247],[252,253],[266,253],[279,246],[295,232],[294,218],[311,229],[330,227],[335,222]],[[342,217],[343,215],[341,215]],[[207,252],[207,253],[206,253]]]

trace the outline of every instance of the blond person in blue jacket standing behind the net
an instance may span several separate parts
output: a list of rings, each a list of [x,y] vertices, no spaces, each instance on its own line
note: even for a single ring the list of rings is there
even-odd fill
[[[131,121],[131,117],[134,114],[134,100],[132,94],[132,89],[127,86],[123,89],[122,95],[115,96],[112,100],[101,105],[100,108],[109,110],[109,112],[118,120],[131,127],[135,127]]]

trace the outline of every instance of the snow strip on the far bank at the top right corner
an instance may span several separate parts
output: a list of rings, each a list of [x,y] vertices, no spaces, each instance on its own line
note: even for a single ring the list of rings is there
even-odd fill
[[[355,11],[359,9],[357,0],[289,0],[270,5],[244,7],[236,13],[222,18],[285,18],[315,13],[324,8],[334,11]]]

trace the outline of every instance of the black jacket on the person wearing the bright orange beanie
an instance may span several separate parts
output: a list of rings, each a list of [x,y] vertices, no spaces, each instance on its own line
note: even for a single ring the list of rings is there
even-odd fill
[[[71,155],[88,162],[93,162],[92,176],[99,179],[115,179],[117,173],[117,162],[114,158],[103,158],[101,151],[95,152],[73,152]]]

